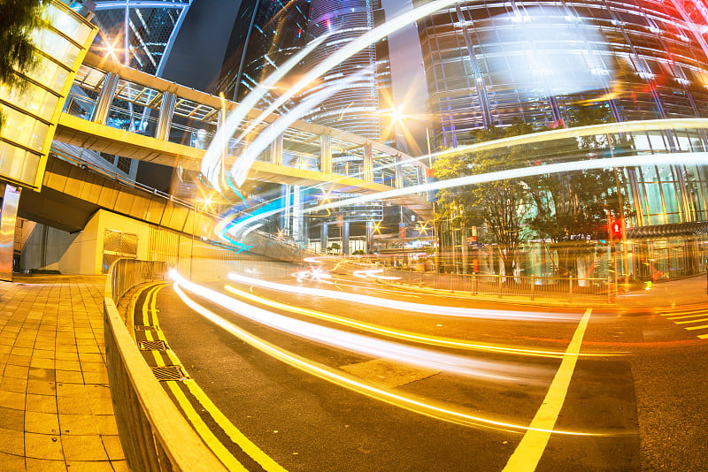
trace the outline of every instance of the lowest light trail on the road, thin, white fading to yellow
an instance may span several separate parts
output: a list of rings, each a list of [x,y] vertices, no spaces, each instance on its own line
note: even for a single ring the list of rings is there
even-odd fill
[[[237,338],[242,339],[242,341],[246,342],[250,346],[257,348],[258,350],[269,354],[281,362],[285,362],[288,365],[295,367],[296,369],[303,370],[304,372],[315,377],[319,377],[343,388],[347,388],[353,392],[361,393],[374,400],[380,400],[388,403],[389,405],[393,405],[394,407],[401,407],[419,415],[426,415],[431,418],[449,423],[456,423],[463,426],[473,426],[511,432],[537,430],[530,426],[524,426],[517,423],[500,421],[479,415],[470,415],[464,411],[452,409],[448,406],[438,406],[430,403],[428,400],[421,399],[411,394],[378,388],[373,384],[368,384],[358,379],[357,377],[350,376],[342,372],[342,370],[333,369],[318,362],[309,361],[304,359],[302,356],[290,353],[285,349],[274,346],[272,343],[253,336],[248,331],[242,330],[235,324],[228,322],[221,316],[189,299],[189,297],[182,292],[180,286],[176,283],[174,284],[174,291],[189,308],[194,309],[199,315],[204,316],[204,318],[208,319],[213,324],[216,324]],[[589,433],[571,430],[549,430],[548,432],[572,436],[608,436],[609,434],[612,434]]]

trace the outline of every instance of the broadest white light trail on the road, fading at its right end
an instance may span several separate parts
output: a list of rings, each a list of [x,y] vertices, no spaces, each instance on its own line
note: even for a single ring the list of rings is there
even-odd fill
[[[509,362],[480,361],[460,355],[442,354],[420,347],[405,346],[382,339],[369,338],[349,331],[335,330],[327,326],[282,316],[273,311],[268,311],[235,300],[224,293],[219,293],[203,285],[189,282],[174,272],[170,277],[190,292],[197,293],[199,296],[239,316],[269,326],[275,330],[287,332],[298,338],[309,339],[326,346],[344,349],[352,353],[363,354],[373,358],[389,359],[410,366],[451,372],[461,376],[486,381],[543,383],[539,378],[545,376],[548,376],[550,381],[550,375],[547,372],[548,369],[529,366],[520,369],[518,365]],[[514,371],[518,372],[518,374],[509,374],[509,372]],[[521,371],[523,371],[524,375],[520,375]]]

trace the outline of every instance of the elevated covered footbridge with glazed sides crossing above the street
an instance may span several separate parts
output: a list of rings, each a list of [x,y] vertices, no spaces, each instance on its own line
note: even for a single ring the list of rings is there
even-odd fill
[[[66,98],[54,139],[198,171],[219,124],[235,106],[219,96],[88,54]],[[251,110],[241,130],[258,113]],[[267,117],[253,133],[263,132],[276,118]],[[245,146],[235,139],[225,143],[227,169]],[[425,164],[379,142],[298,120],[258,156],[248,179],[318,186],[325,192],[375,194],[419,185],[426,169]],[[432,215],[423,194],[396,197],[392,202],[423,217]]]

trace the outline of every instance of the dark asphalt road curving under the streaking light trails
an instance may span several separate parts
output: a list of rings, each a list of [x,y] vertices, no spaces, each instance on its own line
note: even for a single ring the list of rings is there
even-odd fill
[[[234,434],[229,437],[229,429],[214,419],[214,407],[205,405],[188,388],[189,382],[201,387],[233,428],[287,470],[496,471],[507,463],[508,470],[708,470],[708,340],[697,339],[666,313],[594,310],[587,329],[579,332],[586,313],[583,307],[554,310],[485,304],[398,291],[346,274],[328,279],[327,284],[267,279],[393,301],[494,311],[481,319],[442,316],[229,281],[204,285],[235,299],[242,300],[242,295],[227,292],[225,285],[271,303],[313,309],[427,339],[458,339],[482,346],[480,350],[390,339],[331,320],[313,319],[302,312],[267,307],[262,299],[246,300],[274,314],[366,336],[366,341],[357,338],[357,342],[367,348],[378,340],[386,342],[385,346],[394,343],[396,349],[424,350],[419,361],[404,363],[333,346],[344,342],[334,331],[327,331],[319,340],[284,333],[242,315],[253,315],[254,308],[237,308],[239,314],[219,306],[204,289],[196,293],[185,290],[192,301],[255,336],[258,342],[267,343],[265,346],[329,372],[330,377],[318,377],[292,362],[283,362],[286,354],[273,356],[267,348],[253,346],[255,341],[246,342],[198,314],[174,292],[173,285],[164,285],[152,295],[142,293],[135,324],[158,323],[167,345],[179,358],[175,361],[162,353],[163,362],[181,362],[191,379],[165,382],[173,384],[165,390],[175,397],[171,389],[179,388],[213,431],[212,441],[218,440],[249,470],[277,467],[258,459],[258,454],[254,459],[250,443],[234,440]],[[158,315],[157,320],[145,321],[142,304],[150,301],[150,296],[157,297]],[[700,313],[704,308],[691,309],[685,312]],[[519,319],[519,310],[538,313],[526,313],[530,319]],[[681,315],[681,308],[671,314]],[[277,319],[268,315],[267,322],[280,323]],[[309,336],[317,330],[306,326],[304,331]],[[581,336],[581,355],[568,370],[566,362],[572,354],[564,357],[564,353],[571,348],[573,336]],[[539,351],[556,354],[528,355]],[[432,366],[421,365],[438,362],[440,354],[447,357]],[[417,354],[404,351],[401,355]],[[158,358],[151,354],[150,362],[154,364]],[[557,392],[564,371],[567,389],[551,395]],[[344,386],[331,377],[337,373],[383,393],[365,394],[360,388]],[[411,408],[412,403],[386,396],[390,394],[426,407]],[[555,432],[547,442],[539,442],[538,432],[529,433],[527,427],[540,421],[538,416],[543,415],[538,412],[544,402],[551,409],[557,406],[558,412],[551,423]],[[441,410],[452,413],[424,414]],[[515,452],[520,465],[512,467],[510,458]]]

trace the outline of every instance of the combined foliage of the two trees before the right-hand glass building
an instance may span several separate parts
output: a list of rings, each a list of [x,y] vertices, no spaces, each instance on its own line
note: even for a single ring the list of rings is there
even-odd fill
[[[569,115],[571,126],[612,120],[603,107],[581,107],[571,110]],[[473,139],[489,141],[536,131],[545,129],[517,121],[503,130],[495,127],[479,130]],[[446,156],[435,162],[434,171],[438,179],[454,179],[528,165],[607,157],[612,148],[630,147],[631,142],[616,136],[567,138]],[[622,183],[616,171],[599,169],[444,189],[438,192],[438,201],[443,207],[443,218],[458,217],[464,212],[468,224],[487,227],[487,242],[495,245],[507,274],[513,272],[517,249],[528,237],[552,241],[558,254],[554,269],[568,275],[573,273],[569,247],[582,244],[581,241],[603,239],[607,235],[608,217],[624,215],[626,208],[620,208],[620,188]]]

